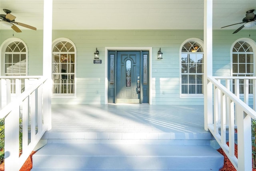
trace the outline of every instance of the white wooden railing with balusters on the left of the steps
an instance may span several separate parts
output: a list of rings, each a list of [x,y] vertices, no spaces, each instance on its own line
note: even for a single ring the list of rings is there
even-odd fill
[[[19,171],[44,132],[48,129],[45,118],[47,113],[43,113],[43,104],[47,103],[43,98],[43,88],[45,78],[36,78],[33,85],[25,84],[22,93],[21,79],[34,79],[24,77],[1,77],[1,89],[3,95],[3,86],[6,88],[7,104],[0,111],[0,118],[5,119],[5,147],[4,164],[6,171]],[[18,96],[12,98],[11,80],[15,79],[16,93]],[[24,87],[23,87],[24,88]],[[4,101],[1,99],[1,102]],[[20,125],[20,119],[22,124]],[[22,136],[22,149],[19,149],[19,137]]]

